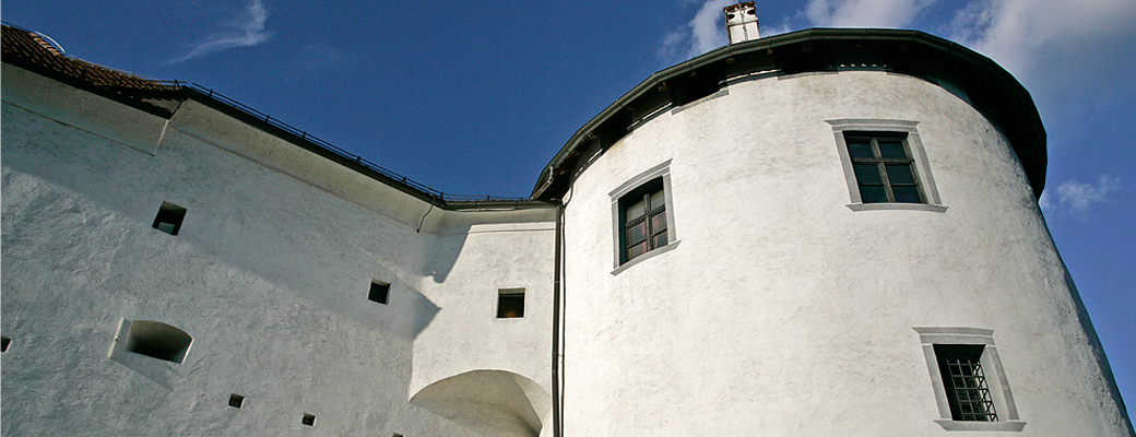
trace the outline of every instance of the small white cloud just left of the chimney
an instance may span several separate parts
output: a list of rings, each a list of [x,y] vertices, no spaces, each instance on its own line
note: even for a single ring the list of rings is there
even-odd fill
[[[721,9],[732,0],[701,1],[699,11],[682,28],[667,34],[659,50],[659,58],[674,64],[726,45],[725,15]]]

